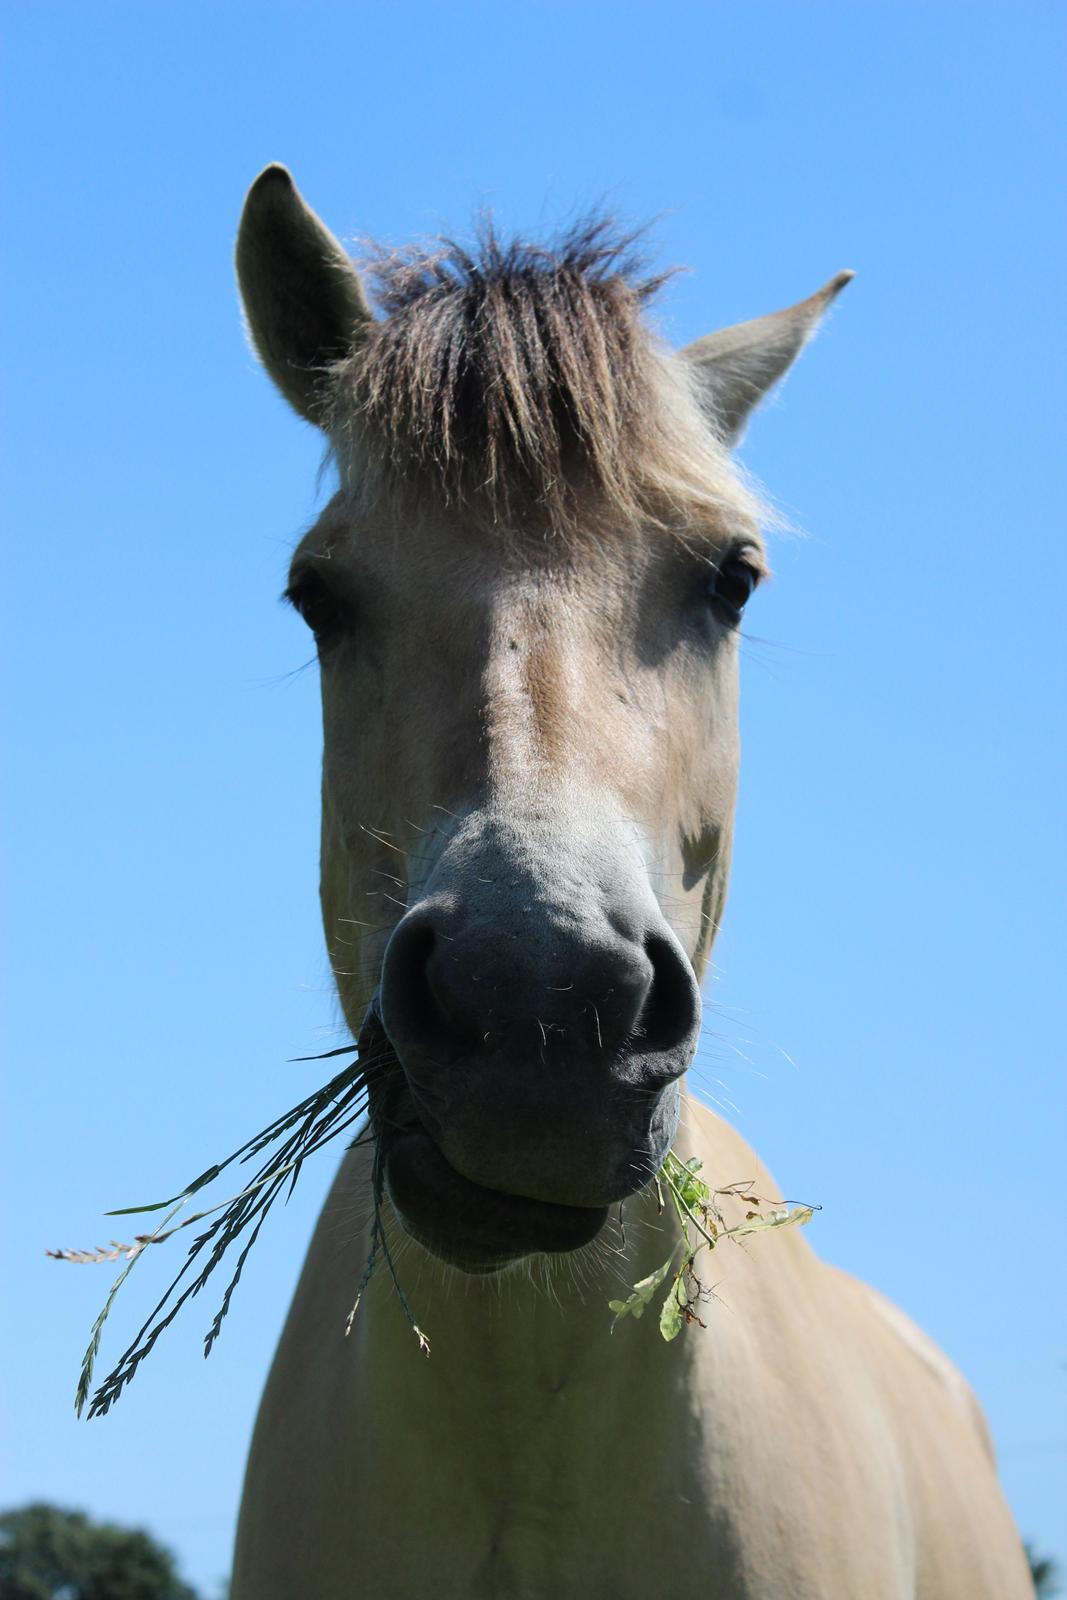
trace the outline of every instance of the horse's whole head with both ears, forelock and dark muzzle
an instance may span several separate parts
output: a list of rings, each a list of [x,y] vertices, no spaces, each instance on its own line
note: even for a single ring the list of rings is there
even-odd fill
[[[325,717],[322,906],[384,1189],[493,1270],[597,1235],[673,1139],[766,573],[729,456],[848,280],[681,352],[632,240],[381,256],[376,317],[285,168],[254,346],[341,486],[288,598]]]

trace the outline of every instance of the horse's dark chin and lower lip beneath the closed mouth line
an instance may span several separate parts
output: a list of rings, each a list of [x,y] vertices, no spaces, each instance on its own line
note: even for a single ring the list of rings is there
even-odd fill
[[[606,1206],[553,1205],[475,1184],[416,1128],[390,1138],[386,1186],[406,1232],[464,1272],[498,1272],[523,1256],[579,1250],[608,1219]]]

